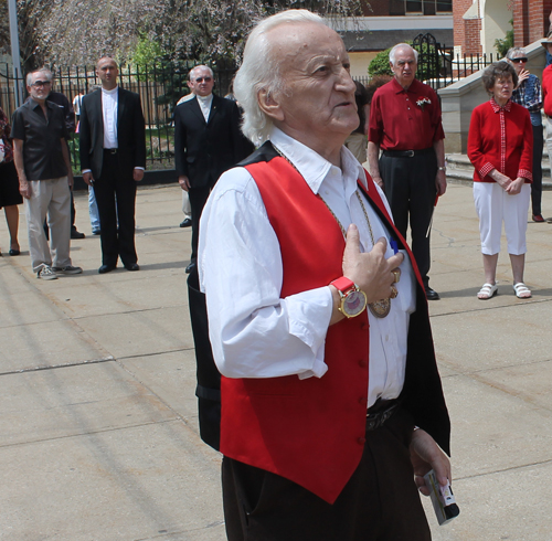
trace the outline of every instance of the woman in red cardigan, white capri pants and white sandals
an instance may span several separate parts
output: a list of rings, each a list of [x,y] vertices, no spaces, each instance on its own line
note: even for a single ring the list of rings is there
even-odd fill
[[[523,106],[510,99],[518,75],[508,62],[491,64],[481,79],[491,98],[474,109],[468,135],[485,270],[485,284],[477,298],[490,299],[497,293],[497,262],[503,222],[513,291],[518,298],[526,299],[531,297],[531,290],[523,284],[532,182],[531,119]]]

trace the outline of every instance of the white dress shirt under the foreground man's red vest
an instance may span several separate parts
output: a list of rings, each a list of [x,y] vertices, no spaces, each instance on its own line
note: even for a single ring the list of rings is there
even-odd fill
[[[362,167],[346,148],[342,170],[277,128],[270,140],[301,173],[314,193],[347,230],[357,224],[362,251],[372,250],[369,226],[355,195]],[[379,188],[376,187],[379,190]],[[380,191],[389,210],[385,197]],[[374,240],[390,234],[362,195]],[[278,240],[258,188],[245,168],[226,171],[201,216],[200,286],[206,294],[214,360],[229,378],[322,378],[325,340],[333,300],[328,286],[280,298],[283,266]],[[393,255],[388,242],[386,257]],[[406,254],[405,254],[406,255]],[[369,402],[399,396],[404,383],[410,314],[415,310],[414,273],[401,264],[399,296],[385,318],[369,311]],[[339,276],[336,276],[338,278]]]

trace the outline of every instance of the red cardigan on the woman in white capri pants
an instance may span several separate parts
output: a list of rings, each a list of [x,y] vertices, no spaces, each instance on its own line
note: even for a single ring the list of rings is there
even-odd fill
[[[489,177],[492,169],[512,180],[521,177],[532,182],[533,129],[529,112],[511,100],[500,108],[492,98],[476,107],[469,124],[468,158],[476,168],[475,182],[495,182]]]

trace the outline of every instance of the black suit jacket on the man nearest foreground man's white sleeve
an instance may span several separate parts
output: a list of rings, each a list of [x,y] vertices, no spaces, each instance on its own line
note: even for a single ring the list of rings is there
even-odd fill
[[[197,97],[174,109],[177,174],[188,177],[192,188],[213,187],[246,153],[235,102],[213,94],[208,123]]]

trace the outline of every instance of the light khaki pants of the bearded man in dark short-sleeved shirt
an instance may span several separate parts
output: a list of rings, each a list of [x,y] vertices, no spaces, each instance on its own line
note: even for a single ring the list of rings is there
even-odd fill
[[[71,265],[71,191],[67,177],[51,180],[31,180],[31,199],[23,199],[25,206],[29,250],[33,270],[44,265]],[[44,233],[47,214],[50,247]]]

